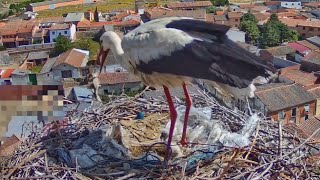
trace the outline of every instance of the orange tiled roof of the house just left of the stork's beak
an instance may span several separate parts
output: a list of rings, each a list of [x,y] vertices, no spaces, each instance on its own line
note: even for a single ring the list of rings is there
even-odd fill
[[[73,67],[81,67],[86,54],[77,50],[71,49],[65,53],[62,53],[58,58],[53,67],[56,67],[62,63],[69,64]]]

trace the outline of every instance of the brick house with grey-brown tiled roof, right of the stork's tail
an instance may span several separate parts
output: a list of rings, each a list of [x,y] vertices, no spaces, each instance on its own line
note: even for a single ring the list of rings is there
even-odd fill
[[[274,121],[299,124],[315,114],[316,97],[296,83],[258,86],[255,95],[250,100],[253,109]]]

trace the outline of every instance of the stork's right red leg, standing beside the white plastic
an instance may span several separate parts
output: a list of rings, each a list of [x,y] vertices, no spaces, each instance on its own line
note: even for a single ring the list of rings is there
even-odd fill
[[[184,114],[183,131],[182,131],[182,137],[181,137],[180,142],[183,146],[185,146],[188,144],[187,143],[187,127],[188,127],[188,119],[189,119],[190,108],[192,105],[192,100],[189,95],[187,85],[185,83],[183,83],[183,91],[184,91],[184,95],[186,97],[186,112]]]

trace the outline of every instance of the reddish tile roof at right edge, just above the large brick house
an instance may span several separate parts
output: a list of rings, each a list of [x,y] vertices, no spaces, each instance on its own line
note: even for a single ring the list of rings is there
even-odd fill
[[[297,84],[300,84],[305,89],[308,89],[312,85],[320,85],[320,79],[314,75],[314,73],[309,73],[300,70],[300,65],[290,66],[281,69],[280,77],[284,77]]]

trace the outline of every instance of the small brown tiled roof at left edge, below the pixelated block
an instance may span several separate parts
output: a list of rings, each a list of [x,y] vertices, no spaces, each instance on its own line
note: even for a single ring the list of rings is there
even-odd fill
[[[7,157],[12,155],[15,149],[19,147],[21,143],[21,139],[16,135],[12,135],[11,137],[6,138],[6,140],[0,144],[0,157]]]

